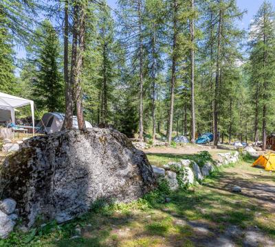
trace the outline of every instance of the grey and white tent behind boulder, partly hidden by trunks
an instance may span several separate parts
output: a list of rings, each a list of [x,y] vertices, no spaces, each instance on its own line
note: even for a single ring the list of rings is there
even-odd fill
[[[38,132],[40,133],[52,134],[61,131],[64,119],[64,113],[45,113],[36,127],[39,128]],[[86,128],[92,128],[88,121],[85,121],[85,126]],[[73,128],[78,128],[76,116],[73,117]]]

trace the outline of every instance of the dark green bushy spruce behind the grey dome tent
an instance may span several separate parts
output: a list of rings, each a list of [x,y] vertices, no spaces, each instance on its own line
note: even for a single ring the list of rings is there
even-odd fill
[[[62,111],[64,93],[58,36],[50,21],[44,21],[35,35],[36,41],[28,48],[28,62],[35,66],[31,76],[36,106],[50,112]]]

